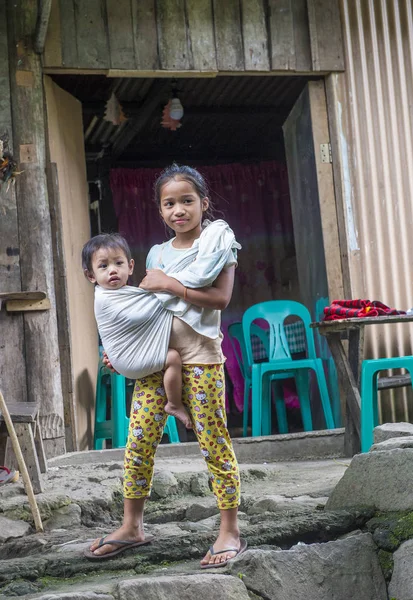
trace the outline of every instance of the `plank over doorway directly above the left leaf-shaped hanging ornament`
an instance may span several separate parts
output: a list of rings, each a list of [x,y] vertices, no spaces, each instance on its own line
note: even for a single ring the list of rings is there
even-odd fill
[[[106,0],[110,66],[113,69],[135,68],[133,21],[130,0]]]

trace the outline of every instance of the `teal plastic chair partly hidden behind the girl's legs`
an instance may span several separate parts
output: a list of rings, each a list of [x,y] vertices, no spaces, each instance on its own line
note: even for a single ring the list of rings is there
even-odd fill
[[[107,388],[110,385],[110,417],[107,418]],[[112,448],[126,446],[129,418],[126,415],[126,378],[112,373],[102,361],[102,349],[96,383],[95,431],[93,448],[102,450],[103,442],[111,440]],[[164,433],[171,444],[180,442],[175,417],[168,416]]]

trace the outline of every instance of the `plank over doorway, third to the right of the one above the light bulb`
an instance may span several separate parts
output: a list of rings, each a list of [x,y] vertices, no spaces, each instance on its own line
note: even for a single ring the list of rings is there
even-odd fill
[[[241,0],[246,71],[269,71],[268,31],[264,0]]]

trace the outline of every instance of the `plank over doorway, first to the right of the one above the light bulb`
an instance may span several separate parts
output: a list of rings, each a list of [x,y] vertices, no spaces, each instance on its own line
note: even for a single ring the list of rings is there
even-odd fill
[[[217,71],[211,0],[186,0],[188,34],[195,71]]]

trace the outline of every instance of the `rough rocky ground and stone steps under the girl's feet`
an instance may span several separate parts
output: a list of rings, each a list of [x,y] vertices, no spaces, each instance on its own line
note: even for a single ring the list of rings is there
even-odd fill
[[[249,453],[240,454],[254,462],[240,465],[240,525],[249,550],[208,572],[200,570],[199,559],[216,537],[219,516],[196,447],[181,445],[171,450],[173,458],[167,448],[159,452],[145,519],[155,541],[102,562],[87,561],[83,550],[121,519],[121,452],[50,461],[37,496],[43,533],[33,530],[22,484],[0,487],[0,600],[189,600],[197,594],[203,600],[387,600],[386,581],[413,552],[412,486],[402,495],[404,512],[379,513],[377,504],[394,500],[390,493],[385,501],[375,497],[383,496],[377,478],[368,496],[366,460],[374,472],[381,460],[394,477],[402,469],[405,478],[413,450],[407,437],[390,450],[382,443],[385,452],[355,457],[351,468],[339,456],[269,462],[268,449],[260,462],[259,444],[248,446]],[[408,453],[402,466],[400,445]],[[401,486],[387,475],[389,481],[400,496]],[[393,587],[401,589],[394,577]]]

